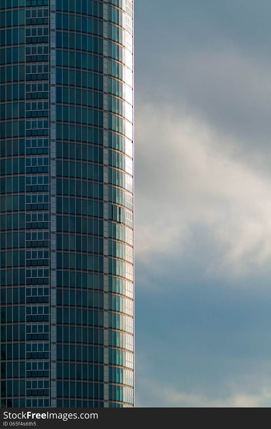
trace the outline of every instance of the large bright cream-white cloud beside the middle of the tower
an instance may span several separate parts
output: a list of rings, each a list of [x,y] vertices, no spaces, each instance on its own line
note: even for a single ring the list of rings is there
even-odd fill
[[[174,255],[181,263],[184,249],[187,254],[200,246],[206,272],[244,274],[269,264],[271,178],[234,159],[227,148],[238,148],[239,140],[184,106],[141,100],[137,112],[138,259]]]

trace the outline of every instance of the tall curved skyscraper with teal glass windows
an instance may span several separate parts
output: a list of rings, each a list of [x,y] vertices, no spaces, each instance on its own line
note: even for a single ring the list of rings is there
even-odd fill
[[[0,0],[1,407],[133,406],[133,1]]]

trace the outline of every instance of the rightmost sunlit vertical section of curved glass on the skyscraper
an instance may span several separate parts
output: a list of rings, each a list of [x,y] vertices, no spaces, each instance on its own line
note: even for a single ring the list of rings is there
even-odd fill
[[[134,405],[133,2],[104,6],[107,59],[108,406]]]

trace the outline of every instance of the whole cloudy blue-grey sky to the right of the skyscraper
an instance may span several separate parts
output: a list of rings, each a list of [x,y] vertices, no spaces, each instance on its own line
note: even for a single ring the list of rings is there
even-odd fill
[[[269,0],[135,0],[135,405],[271,405]]]

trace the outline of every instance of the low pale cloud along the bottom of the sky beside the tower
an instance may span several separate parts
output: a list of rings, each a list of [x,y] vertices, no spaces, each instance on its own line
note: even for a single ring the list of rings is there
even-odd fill
[[[181,356],[181,351],[179,353]],[[193,380],[192,373],[186,374],[185,371],[180,377],[174,362],[175,376],[169,372],[167,378],[163,376],[154,378],[151,361],[151,354],[139,352],[136,407],[258,408],[270,406],[271,373],[268,360],[261,363],[254,361],[248,366],[247,362],[243,361],[243,371],[238,371],[237,368],[231,371],[228,368],[228,371],[220,374],[218,378],[215,372],[209,371],[206,373],[205,384],[202,384],[197,366],[194,368]],[[161,368],[160,371],[163,372]]]

